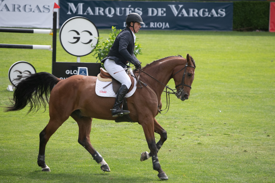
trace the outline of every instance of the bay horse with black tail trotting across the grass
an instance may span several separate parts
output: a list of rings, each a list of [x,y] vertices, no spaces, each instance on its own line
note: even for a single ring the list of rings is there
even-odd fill
[[[194,79],[195,61],[189,54],[186,59],[181,56],[170,56],[147,64],[140,72],[139,80],[147,87],[137,88],[127,98],[130,118],[143,128],[150,152],[143,152],[141,161],[152,157],[153,170],[158,171],[158,178],[168,180],[162,170],[157,153],[167,139],[167,132],[156,120],[161,108],[161,94],[170,79],[174,79],[176,96],[185,101],[189,98]],[[145,74],[147,73],[147,74]],[[153,78],[153,79],[152,79]],[[30,105],[29,112],[37,112],[41,105],[46,110],[49,104],[50,120],[39,134],[39,155],[37,163],[42,171],[50,171],[45,163],[45,148],[50,137],[71,116],[79,126],[78,142],[101,164],[102,171],[110,171],[103,157],[90,143],[92,119],[115,120],[110,109],[115,98],[100,97],[95,93],[97,77],[73,75],[67,79],[59,79],[47,72],[39,72],[24,76],[13,93],[12,105],[7,111],[18,111]],[[146,84],[145,84],[146,83]],[[50,97],[49,97],[50,94]],[[160,135],[156,143],[155,133]]]

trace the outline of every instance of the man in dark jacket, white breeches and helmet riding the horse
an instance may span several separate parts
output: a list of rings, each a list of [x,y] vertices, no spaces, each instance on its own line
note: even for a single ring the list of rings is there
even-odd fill
[[[134,64],[136,68],[141,68],[141,63],[134,55],[134,48],[136,40],[135,33],[141,28],[140,24],[144,23],[138,13],[130,13],[126,17],[126,24],[126,28],[116,36],[107,57],[101,60],[101,62],[104,63],[105,70],[121,83],[121,87],[116,94],[115,104],[111,109],[113,117],[117,117],[121,113],[123,113],[123,115],[130,113],[130,111],[120,108],[120,104],[123,102],[123,98],[131,86],[129,76],[122,70],[127,67],[126,64],[128,62]]]

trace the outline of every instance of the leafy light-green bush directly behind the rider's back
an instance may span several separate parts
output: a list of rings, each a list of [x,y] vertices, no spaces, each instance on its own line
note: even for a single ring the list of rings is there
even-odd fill
[[[116,36],[119,34],[120,31],[121,29],[117,30],[116,27],[112,26],[112,32],[109,34],[109,38],[106,38],[106,40],[101,42],[100,42],[100,39],[102,38],[98,38],[98,43],[96,45],[92,45],[92,47],[94,47],[94,49],[92,50],[92,53],[94,53],[93,56],[97,59],[97,61],[101,61],[102,59],[107,57],[109,50],[111,49],[116,39]],[[142,54],[141,50],[142,50],[141,45],[138,43],[135,43],[134,55],[137,56],[138,54]],[[101,67],[104,68],[104,65],[101,64]]]

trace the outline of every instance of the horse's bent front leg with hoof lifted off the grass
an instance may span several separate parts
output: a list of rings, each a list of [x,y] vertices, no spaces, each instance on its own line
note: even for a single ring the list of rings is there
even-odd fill
[[[156,118],[154,118],[154,131],[157,134],[160,134],[160,140],[156,143],[157,152],[159,152],[161,146],[163,143],[167,140],[167,132],[163,129],[163,127],[160,126],[160,124],[157,122]],[[149,159],[152,156],[152,153],[150,152],[143,152],[141,153],[140,161],[144,161],[146,159]]]

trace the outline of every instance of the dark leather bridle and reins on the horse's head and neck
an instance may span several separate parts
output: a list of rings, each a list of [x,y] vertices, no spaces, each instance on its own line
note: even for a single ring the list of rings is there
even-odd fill
[[[192,89],[191,86],[184,84],[184,79],[185,79],[185,74],[186,74],[186,69],[187,69],[187,67],[192,67],[192,68],[194,68],[194,69],[196,68],[196,67],[194,67],[194,66],[192,66],[192,65],[188,65],[188,64],[186,63],[186,65],[185,65],[184,68],[182,68],[181,70],[177,71],[175,74],[172,75],[172,78],[173,78],[174,75],[176,75],[176,74],[178,74],[180,71],[184,70],[184,73],[183,73],[183,75],[182,75],[182,82],[181,82],[181,84],[178,84],[177,86],[175,86],[176,89],[171,89],[171,88],[169,88],[167,85],[163,84],[162,82],[160,82],[159,80],[157,80],[157,79],[154,78],[153,76],[149,75],[149,74],[146,73],[145,71],[142,71],[140,68],[137,68],[137,69],[139,70],[139,75],[138,75],[138,77],[134,76],[134,77],[137,79],[137,84],[138,84],[138,83],[140,84],[140,87],[137,87],[137,88],[142,88],[142,86],[141,86],[141,83],[142,83],[144,86],[148,87],[151,91],[153,91],[146,83],[144,83],[144,82],[142,82],[141,80],[139,80],[139,76],[140,76],[140,73],[141,73],[141,72],[145,73],[146,75],[150,76],[152,79],[155,79],[157,82],[159,82],[160,84],[162,84],[163,86],[165,86],[166,91],[164,91],[164,92],[166,93],[166,108],[163,109],[163,110],[160,110],[160,109],[159,109],[160,104],[159,104],[159,105],[158,105],[158,112],[159,112],[160,114],[166,114],[166,113],[168,112],[169,106],[170,106],[170,93],[171,93],[171,94],[175,94],[175,95],[178,97],[178,96],[181,95],[182,91],[184,90],[184,88],[183,88],[184,86],[187,86],[187,87],[189,87],[190,89]],[[133,73],[134,73],[134,72],[133,72]],[[178,86],[182,86],[182,88],[178,88],[178,89],[177,89]],[[168,88],[169,90],[171,90],[172,92],[167,91],[167,88]],[[175,92],[174,90],[177,90],[177,91]],[[154,92],[154,93],[155,93],[155,92]],[[168,97],[167,97],[167,93],[168,93]],[[156,95],[156,93],[155,93],[155,95]],[[168,99],[169,99],[169,100],[168,100]],[[168,105],[168,109],[167,109],[167,105]],[[164,111],[164,110],[166,110],[166,109],[167,109],[167,111],[166,111],[165,113],[161,113],[162,111]]]

